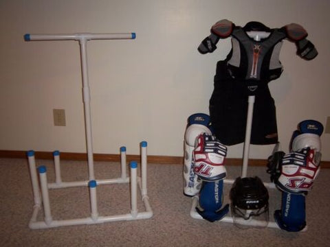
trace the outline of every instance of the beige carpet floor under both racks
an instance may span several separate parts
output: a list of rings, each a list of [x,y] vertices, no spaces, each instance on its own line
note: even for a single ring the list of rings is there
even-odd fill
[[[52,161],[47,178],[54,181]],[[182,166],[148,164],[148,196],[153,209],[149,220],[109,222],[82,226],[30,230],[33,196],[25,159],[0,159],[0,246],[330,246],[330,169],[322,169],[307,196],[308,230],[287,233],[276,228],[240,229],[230,223],[195,220],[189,215],[191,198],[182,193]],[[61,161],[63,180],[87,180],[83,161]],[[119,177],[118,163],[95,163],[96,178]],[[239,176],[240,167],[227,165],[228,177]],[[265,167],[249,167],[248,175],[268,180]],[[225,188],[228,201],[229,185]],[[129,213],[129,185],[97,187],[100,215]],[[280,204],[280,193],[270,190],[271,217]],[[140,199],[140,197],[138,198]],[[50,191],[54,220],[88,217],[88,190],[84,187]],[[139,210],[143,210],[140,204]],[[43,215],[40,215],[42,219]]]

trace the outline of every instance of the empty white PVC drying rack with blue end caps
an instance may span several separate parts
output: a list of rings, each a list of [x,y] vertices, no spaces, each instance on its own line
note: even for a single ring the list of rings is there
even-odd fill
[[[36,163],[34,151],[28,152],[28,163],[30,167],[30,176],[32,180],[32,191],[34,196],[34,210],[30,220],[29,227],[53,228],[58,226],[72,226],[80,224],[100,224],[104,222],[115,222],[120,220],[141,220],[148,219],[153,216],[153,211],[148,201],[146,189],[146,141],[142,141],[141,145],[141,176],[137,176],[137,162],[132,161],[131,177],[126,176],[126,148],[120,148],[121,158],[121,176],[120,178],[112,178],[105,180],[97,180],[94,176],[94,156],[93,156],[93,137],[91,132],[91,107],[88,82],[88,64],[87,64],[87,41],[89,40],[114,40],[114,39],[134,39],[135,33],[120,34],[25,34],[25,41],[30,40],[76,40],[80,45],[81,70],[83,75],[83,102],[85,110],[85,134],[87,143],[87,162],[89,170],[89,180],[76,182],[63,182],[61,180],[60,153],[55,151],[54,165],[56,183],[47,183],[47,169],[45,166],[38,167],[39,179],[36,172]],[[39,187],[40,180],[40,187]],[[122,215],[100,216],[98,215],[98,203],[96,200],[96,187],[98,185],[109,185],[117,183],[131,184],[131,212]],[[139,186],[137,186],[139,185]],[[50,209],[49,189],[60,189],[67,187],[89,187],[91,215],[78,219],[69,220],[53,220]],[[137,187],[140,188],[142,201],[144,202],[145,211],[137,211]],[[44,220],[37,221],[39,211],[43,208]]]

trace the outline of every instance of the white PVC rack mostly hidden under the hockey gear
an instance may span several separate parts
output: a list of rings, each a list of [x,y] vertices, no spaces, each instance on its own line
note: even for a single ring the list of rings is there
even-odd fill
[[[256,41],[260,41],[262,38],[267,38],[270,33],[267,32],[248,32],[250,38],[254,38]],[[245,140],[244,140],[244,149],[243,149],[243,165],[242,165],[242,172],[241,178],[245,178],[248,174],[248,161],[250,156],[250,141],[251,141],[251,130],[252,130],[252,118],[253,118],[253,107],[254,107],[255,96],[249,95],[248,97],[248,116],[246,120],[246,127],[245,127]],[[225,184],[232,185],[234,183],[233,179],[225,179],[223,180]],[[274,183],[263,183],[265,187],[270,189],[276,189]],[[203,220],[203,217],[199,215],[196,211],[196,207],[198,204],[198,196],[192,197],[192,204],[190,208],[190,216],[197,219]],[[250,220],[243,220],[243,219],[236,219],[235,220],[238,224],[245,225],[245,226],[265,226],[265,222],[262,220],[254,220],[252,217]],[[223,217],[220,222],[229,222],[234,223],[234,220],[231,216]],[[268,222],[267,227],[270,228],[279,228],[276,222]]]

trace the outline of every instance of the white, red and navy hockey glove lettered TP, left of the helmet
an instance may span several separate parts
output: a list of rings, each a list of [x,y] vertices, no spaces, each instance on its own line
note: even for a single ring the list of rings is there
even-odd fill
[[[225,178],[224,167],[227,148],[211,134],[197,137],[195,150],[192,152],[194,172],[201,180],[216,181]]]

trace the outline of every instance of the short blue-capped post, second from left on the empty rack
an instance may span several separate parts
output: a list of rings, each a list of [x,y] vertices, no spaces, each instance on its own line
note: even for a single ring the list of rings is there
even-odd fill
[[[47,169],[44,165],[38,167],[40,185],[41,185],[41,194],[43,196],[43,211],[45,214],[45,223],[49,226],[52,223],[52,213],[50,212],[50,196],[48,194],[47,188]]]

